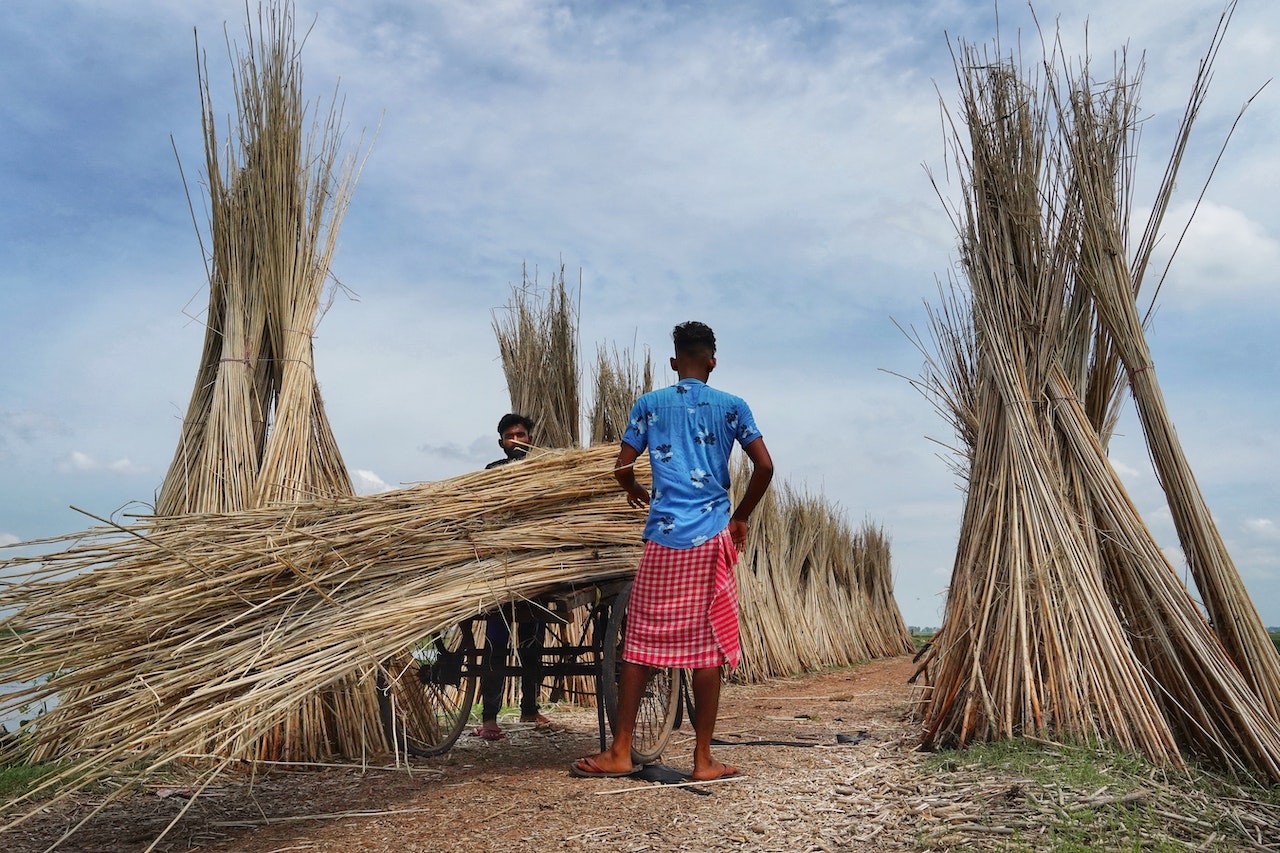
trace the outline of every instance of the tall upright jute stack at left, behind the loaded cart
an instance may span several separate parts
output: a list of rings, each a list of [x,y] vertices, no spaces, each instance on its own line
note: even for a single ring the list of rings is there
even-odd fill
[[[247,38],[232,74],[229,140],[219,137],[201,63],[209,311],[196,386],[156,498],[156,515],[175,521],[352,494],[320,397],[312,332],[356,164],[340,152],[335,106],[317,110],[307,128],[292,5],[260,6]],[[364,708],[369,725],[378,719],[367,690],[351,685],[349,697],[330,699]],[[329,716],[324,703],[298,713],[264,736],[262,757],[320,754],[311,729]],[[323,753],[334,747],[343,744]]]

